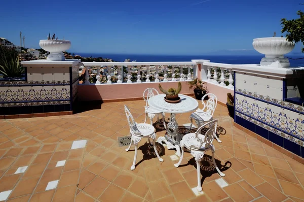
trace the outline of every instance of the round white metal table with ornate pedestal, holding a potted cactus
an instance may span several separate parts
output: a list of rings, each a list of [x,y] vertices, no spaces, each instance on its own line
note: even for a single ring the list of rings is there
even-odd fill
[[[170,121],[167,124],[166,130],[167,134],[165,137],[159,137],[157,142],[163,144],[166,143],[168,149],[176,148],[177,155],[180,156],[179,143],[182,139],[182,135],[178,132],[178,123],[175,119],[175,114],[181,114],[186,112],[192,112],[196,110],[199,103],[196,99],[189,97],[187,95],[179,94],[180,102],[178,103],[167,103],[164,100],[165,94],[155,95],[150,97],[148,100],[148,105],[156,110],[170,113]],[[166,124],[164,122],[164,124]]]

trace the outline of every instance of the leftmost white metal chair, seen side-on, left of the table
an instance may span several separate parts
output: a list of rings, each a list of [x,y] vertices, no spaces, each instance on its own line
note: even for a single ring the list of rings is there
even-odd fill
[[[137,144],[140,142],[141,138],[147,138],[150,144],[151,144],[150,138],[153,140],[154,151],[155,151],[158,159],[161,162],[163,162],[164,160],[160,157],[160,155],[158,154],[157,149],[156,149],[156,145],[155,145],[156,134],[155,134],[155,128],[153,127],[153,125],[150,125],[148,123],[136,123],[127,106],[125,106],[125,112],[126,112],[126,116],[128,119],[128,123],[129,123],[129,127],[130,127],[130,134],[131,134],[131,143],[130,143],[129,147],[126,149],[126,151],[129,151],[132,144],[135,145],[135,155],[134,155],[133,164],[131,166],[131,170],[133,171],[135,169],[135,162],[136,162],[136,157],[137,157]]]

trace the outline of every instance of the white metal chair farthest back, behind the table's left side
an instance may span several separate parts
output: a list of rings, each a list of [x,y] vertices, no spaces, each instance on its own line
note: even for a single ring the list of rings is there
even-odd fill
[[[143,91],[143,95],[142,96],[143,96],[143,99],[146,102],[146,105],[144,107],[144,113],[145,113],[144,123],[147,121],[147,117],[149,117],[151,125],[153,125],[153,118],[155,117],[155,115],[157,115],[157,121],[160,122],[159,115],[162,115],[163,116],[164,126],[166,128],[165,113],[161,112],[159,110],[153,109],[150,106],[148,106],[148,100],[149,100],[150,97],[153,97],[155,95],[154,93],[156,93],[157,95],[159,94],[159,92],[155,88],[147,88],[147,89],[145,89]]]

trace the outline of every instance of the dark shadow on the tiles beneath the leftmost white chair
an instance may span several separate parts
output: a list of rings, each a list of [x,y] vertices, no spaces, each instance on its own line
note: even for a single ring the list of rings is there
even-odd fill
[[[156,145],[156,150],[157,150],[158,154],[161,157],[164,156],[166,154],[165,147],[163,145],[159,144],[158,142],[156,142],[155,145]],[[141,150],[143,156],[142,156],[142,159],[138,163],[136,163],[135,166],[139,165],[144,160],[150,160],[152,158],[157,158],[153,145],[150,145],[148,142],[146,142],[142,146],[138,147],[138,150]]]

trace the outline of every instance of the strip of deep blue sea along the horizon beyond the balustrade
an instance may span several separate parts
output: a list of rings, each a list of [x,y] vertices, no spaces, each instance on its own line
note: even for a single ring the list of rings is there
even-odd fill
[[[227,64],[259,64],[263,55],[145,55],[145,54],[108,54],[108,53],[75,53],[82,57],[103,57],[123,62],[125,59],[138,62],[174,62],[191,61],[192,59],[208,59],[210,62]],[[300,58],[302,55],[288,55],[290,58]],[[304,59],[289,59],[290,66],[304,66]]]

